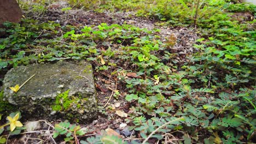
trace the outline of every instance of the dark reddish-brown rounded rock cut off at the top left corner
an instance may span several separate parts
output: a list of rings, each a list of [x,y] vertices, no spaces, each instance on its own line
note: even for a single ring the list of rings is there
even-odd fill
[[[20,22],[21,17],[22,12],[16,0],[0,1],[0,27],[5,21]]]

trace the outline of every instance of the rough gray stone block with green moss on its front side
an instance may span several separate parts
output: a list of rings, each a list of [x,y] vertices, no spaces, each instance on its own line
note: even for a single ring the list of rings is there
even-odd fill
[[[9,87],[22,85],[17,93]],[[91,64],[67,62],[31,64],[10,69],[3,81],[4,100],[33,117],[92,121],[97,115]],[[63,97],[63,93],[68,96]],[[56,100],[57,99],[57,100]]]

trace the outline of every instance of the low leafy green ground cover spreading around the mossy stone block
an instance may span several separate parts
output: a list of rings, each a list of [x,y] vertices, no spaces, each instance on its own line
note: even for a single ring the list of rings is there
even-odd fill
[[[255,5],[228,0],[67,2],[20,2],[25,18],[1,29],[0,79],[18,65],[89,61],[101,114],[92,124],[80,123],[83,128],[44,121],[49,135],[30,140],[256,142]],[[0,103],[5,113],[2,105],[8,104]],[[7,125],[19,115],[9,118]],[[120,123],[129,126],[129,136],[118,133]],[[0,129],[0,143],[18,141],[9,135],[20,134],[17,128],[16,133]]]

